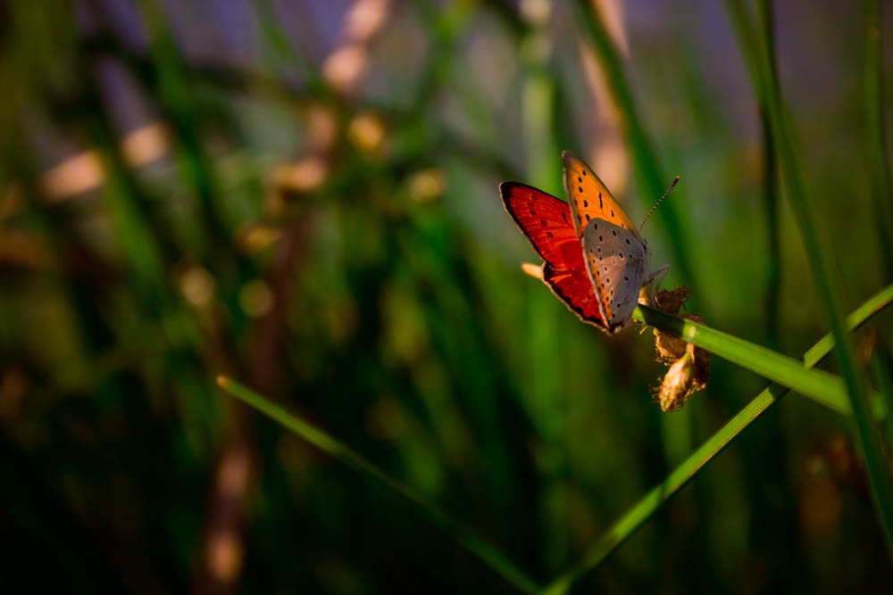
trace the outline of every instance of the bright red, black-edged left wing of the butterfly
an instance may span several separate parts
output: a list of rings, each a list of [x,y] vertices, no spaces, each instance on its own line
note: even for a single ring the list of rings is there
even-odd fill
[[[543,281],[580,320],[605,326],[567,202],[526,184],[499,185],[505,210],[546,264]]]

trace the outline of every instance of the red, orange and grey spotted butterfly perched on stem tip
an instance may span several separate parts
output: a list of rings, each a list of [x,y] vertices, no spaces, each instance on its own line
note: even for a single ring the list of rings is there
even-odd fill
[[[552,293],[580,320],[613,334],[630,321],[641,288],[668,266],[649,273],[647,241],[605,183],[573,153],[564,151],[562,161],[568,202],[520,182],[503,182],[499,194],[545,260]]]

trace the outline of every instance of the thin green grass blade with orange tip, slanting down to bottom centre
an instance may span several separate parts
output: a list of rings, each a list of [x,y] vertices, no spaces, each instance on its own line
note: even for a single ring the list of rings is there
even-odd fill
[[[269,399],[255,393],[251,389],[230,380],[225,376],[218,376],[217,384],[221,388],[230,393],[232,396],[241,401],[245,401],[251,407],[262,412],[267,417],[271,417],[279,422],[282,426],[310,442],[316,448],[329,454],[332,458],[338,459],[342,463],[350,467],[354,467],[358,471],[362,471],[367,475],[371,475],[381,483],[384,483],[388,489],[399,493],[406,500],[410,500],[415,504],[426,516],[430,522],[438,526],[444,533],[450,535],[461,543],[472,554],[480,558],[485,564],[493,568],[498,574],[502,575],[506,581],[512,583],[515,587],[525,593],[532,593],[538,590],[537,583],[524,573],[520,568],[514,566],[512,561],[505,557],[496,548],[484,541],[469,529],[453,520],[444,513],[435,504],[430,502],[420,493],[415,492],[405,483],[399,482],[390,475],[386,474],[379,467],[373,465],[368,459],[351,450],[342,442],[338,442],[335,438],[326,434],[321,429],[307,423],[300,417],[296,417],[282,409],[279,405],[273,403]]]

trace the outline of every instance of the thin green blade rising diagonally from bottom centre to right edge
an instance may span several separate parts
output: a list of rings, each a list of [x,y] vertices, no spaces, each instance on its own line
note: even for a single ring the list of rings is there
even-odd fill
[[[878,313],[881,309],[893,302],[893,285],[884,288],[875,294],[867,302],[853,311],[847,318],[847,325],[855,329],[864,324],[866,320]],[[822,340],[806,351],[804,359],[806,366],[812,368],[834,348],[833,335],[825,335]],[[753,401],[750,401],[744,409],[732,417],[725,426],[722,426],[716,434],[710,437],[685,459],[679,467],[676,467],[667,478],[648,492],[641,500],[630,508],[617,522],[598,539],[580,558],[580,562],[569,571],[561,574],[552,583],[549,583],[544,592],[549,595],[559,595],[567,592],[589,570],[598,566],[602,560],[616,550],[623,541],[629,539],[639,527],[655,514],[669,500],[673,494],[689,483],[692,477],[697,475],[704,466],[718,455],[722,449],[729,445],[741,431],[759,417],[772,403],[780,400],[788,389],[780,384],[771,384],[762,393],[759,393]]]

